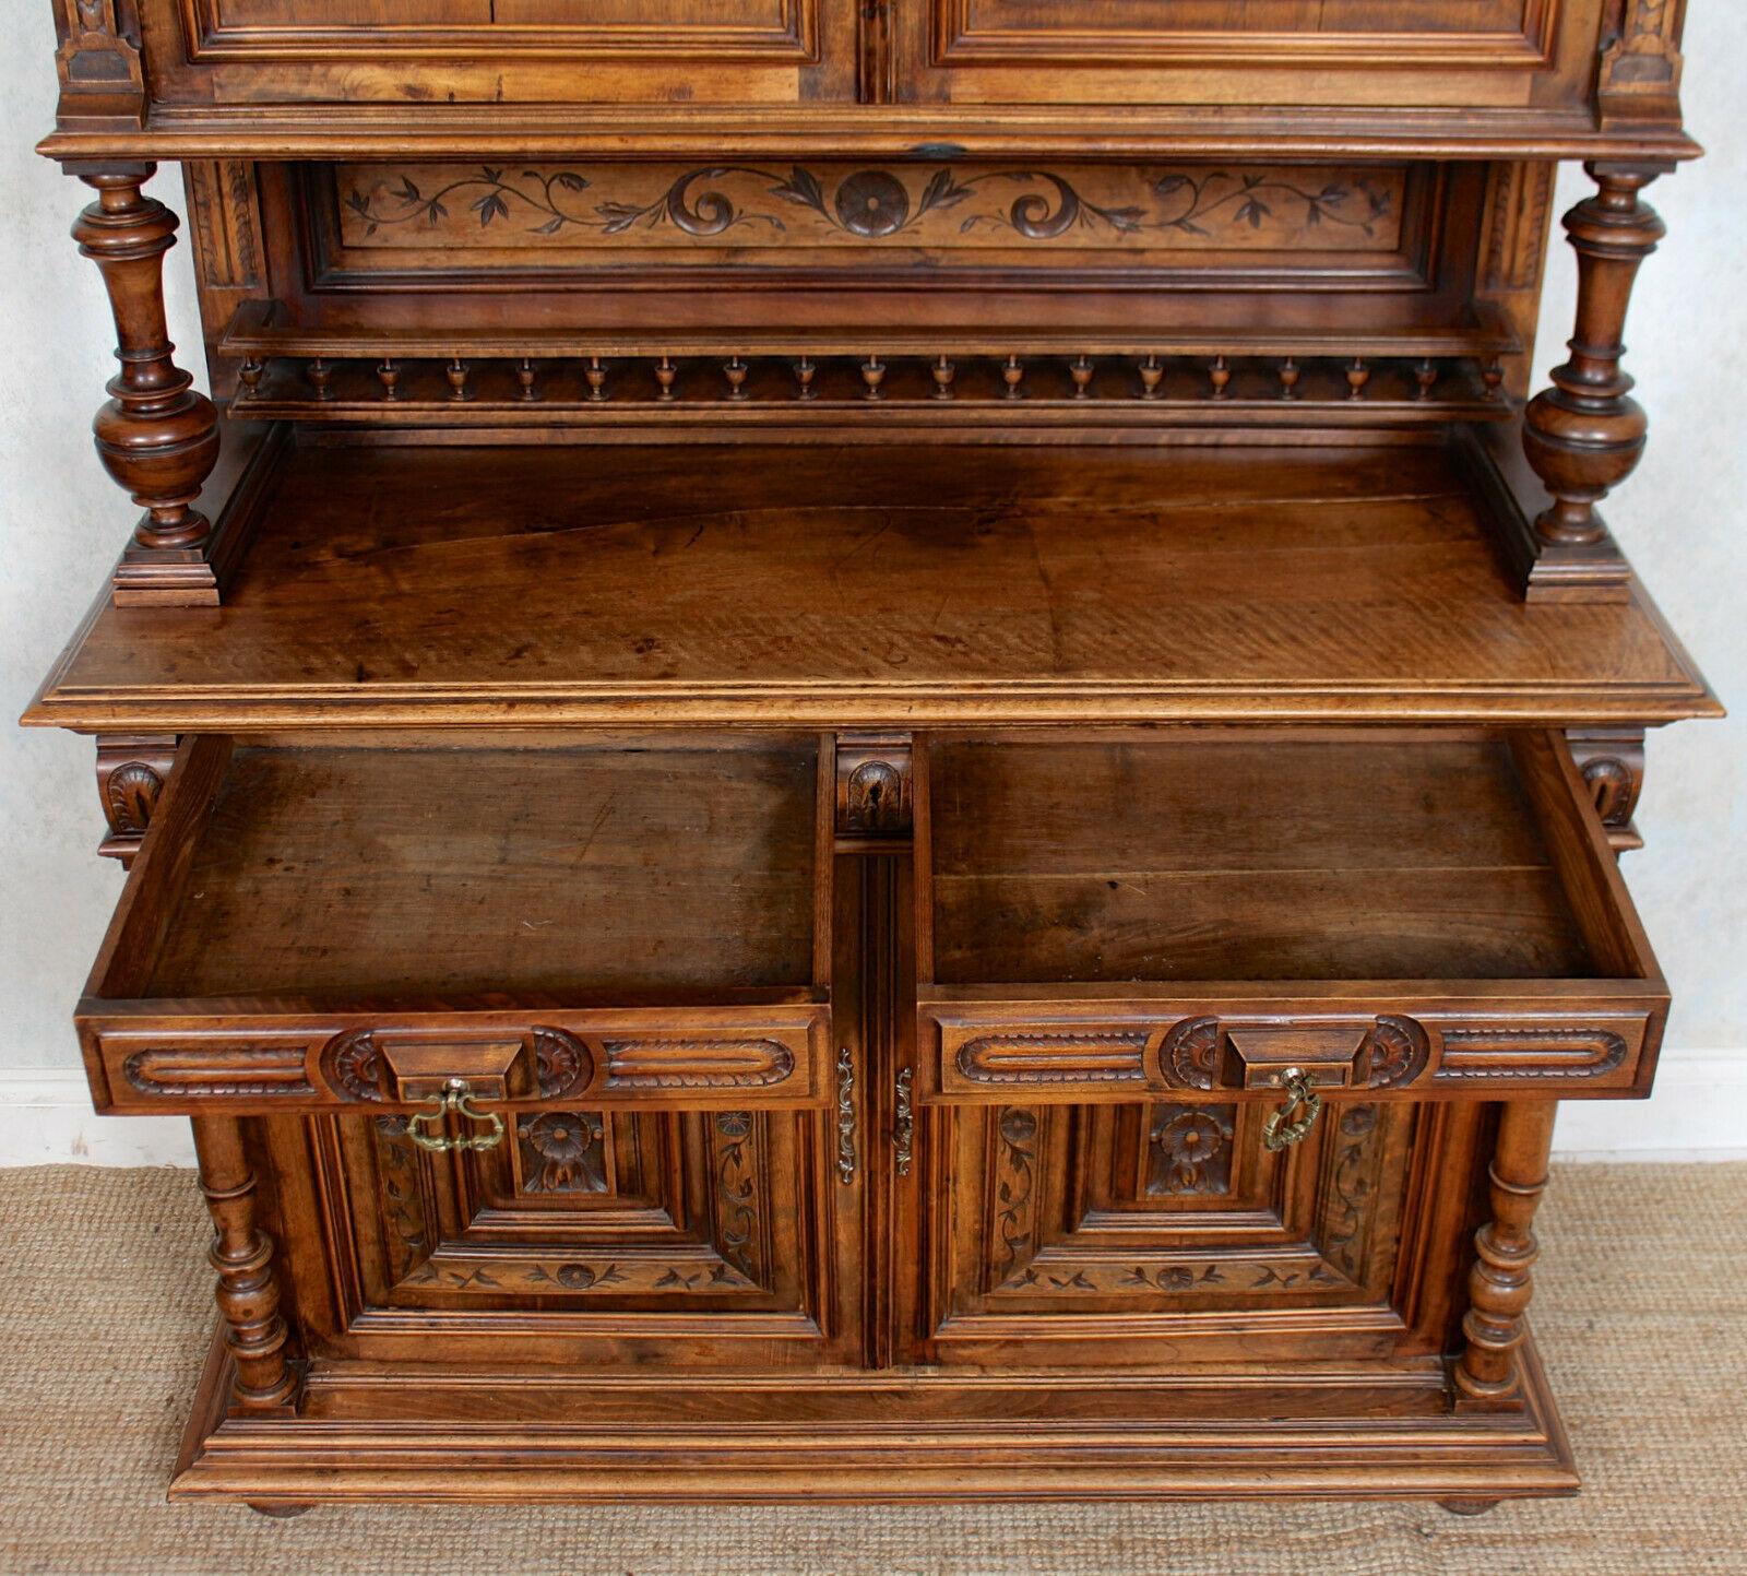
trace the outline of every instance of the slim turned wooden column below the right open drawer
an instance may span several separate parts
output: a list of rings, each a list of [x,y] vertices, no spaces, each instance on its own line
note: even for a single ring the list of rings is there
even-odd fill
[[[1474,1234],[1474,1268],[1467,1277],[1467,1345],[1455,1365],[1457,1407],[1513,1407],[1520,1401],[1516,1349],[1534,1293],[1530,1268],[1539,1256],[1534,1213],[1546,1192],[1558,1101],[1511,1101],[1501,1106],[1492,1153],[1492,1220]]]

